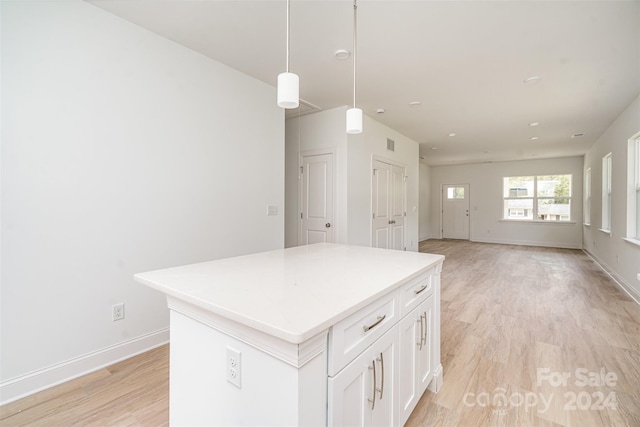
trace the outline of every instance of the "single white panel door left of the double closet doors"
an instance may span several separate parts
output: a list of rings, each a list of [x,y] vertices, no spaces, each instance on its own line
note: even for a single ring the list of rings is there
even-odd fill
[[[333,154],[303,155],[299,244],[334,241]]]

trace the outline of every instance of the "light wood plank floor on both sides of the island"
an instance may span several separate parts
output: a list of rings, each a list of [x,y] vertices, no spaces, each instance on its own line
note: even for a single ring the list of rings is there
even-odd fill
[[[408,426],[640,426],[640,306],[584,253],[441,240],[420,250],[447,257],[444,383]],[[0,408],[2,426],[166,424],[167,346]]]

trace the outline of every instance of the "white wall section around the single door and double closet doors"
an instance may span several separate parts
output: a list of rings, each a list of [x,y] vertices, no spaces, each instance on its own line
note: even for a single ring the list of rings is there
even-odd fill
[[[347,107],[287,120],[286,125],[286,245],[298,242],[297,153],[334,150],[336,153],[336,242],[371,245],[371,171],[373,158],[407,166],[407,250],[418,250],[418,144],[393,129],[364,116],[364,132],[345,131]],[[395,152],[387,150],[387,138]],[[413,207],[416,207],[415,211]]]

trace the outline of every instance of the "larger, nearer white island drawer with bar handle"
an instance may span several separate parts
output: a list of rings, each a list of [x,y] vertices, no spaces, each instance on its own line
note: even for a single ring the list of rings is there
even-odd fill
[[[369,304],[329,331],[328,373],[332,377],[399,320],[397,292]]]

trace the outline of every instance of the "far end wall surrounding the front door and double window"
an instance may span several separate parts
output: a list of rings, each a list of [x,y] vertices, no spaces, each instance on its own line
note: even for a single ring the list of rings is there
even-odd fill
[[[560,248],[582,247],[582,157],[480,163],[431,168],[431,229],[441,236],[443,184],[469,184],[470,240]],[[572,175],[571,223],[502,221],[502,178]]]

